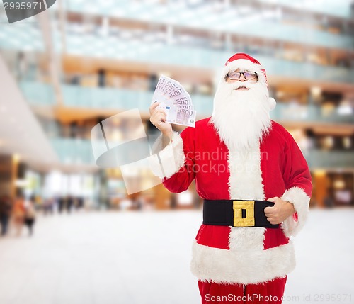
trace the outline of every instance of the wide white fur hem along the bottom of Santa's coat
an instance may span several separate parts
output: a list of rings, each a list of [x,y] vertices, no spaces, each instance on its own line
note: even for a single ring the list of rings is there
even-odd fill
[[[191,271],[200,281],[254,284],[283,278],[295,268],[292,242],[267,250],[227,250],[193,244]]]

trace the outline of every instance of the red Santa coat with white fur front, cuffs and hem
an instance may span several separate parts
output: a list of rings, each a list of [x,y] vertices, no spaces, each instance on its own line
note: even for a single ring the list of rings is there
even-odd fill
[[[156,141],[152,169],[171,192],[196,190],[208,200],[264,200],[279,196],[294,204],[294,217],[278,229],[201,225],[193,244],[191,270],[200,281],[260,283],[286,276],[295,267],[290,235],[304,225],[312,192],[307,162],[290,133],[272,122],[258,147],[231,151],[210,118],[186,128],[161,149]]]

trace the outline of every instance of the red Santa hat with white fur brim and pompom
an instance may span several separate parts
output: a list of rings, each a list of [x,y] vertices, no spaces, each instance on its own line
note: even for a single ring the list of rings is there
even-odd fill
[[[264,67],[262,67],[258,60],[250,55],[239,52],[230,57],[224,65],[223,76],[226,77],[227,73],[236,69],[241,69],[241,72],[256,72],[258,74],[258,82],[268,87],[267,74],[265,73]],[[269,98],[270,110],[275,108],[275,104],[275,99]]]

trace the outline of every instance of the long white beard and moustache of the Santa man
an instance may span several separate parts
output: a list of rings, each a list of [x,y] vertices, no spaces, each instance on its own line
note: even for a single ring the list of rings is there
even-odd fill
[[[246,86],[248,91],[235,91]],[[268,88],[259,82],[236,81],[219,84],[211,122],[229,150],[247,151],[258,147],[271,125]]]

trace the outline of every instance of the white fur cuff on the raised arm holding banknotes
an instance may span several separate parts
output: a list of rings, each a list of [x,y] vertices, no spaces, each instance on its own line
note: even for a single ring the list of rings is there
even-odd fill
[[[169,179],[177,173],[185,163],[183,152],[183,140],[181,136],[173,132],[172,140],[169,145],[163,148],[162,135],[157,137],[152,146],[152,157],[149,157],[149,165],[152,173],[160,179]]]

